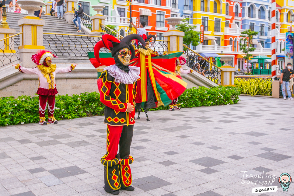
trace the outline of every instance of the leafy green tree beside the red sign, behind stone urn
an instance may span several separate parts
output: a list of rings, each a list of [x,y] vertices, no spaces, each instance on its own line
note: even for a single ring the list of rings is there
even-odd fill
[[[201,32],[195,31],[197,26],[192,26],[189,24],[189,18],[183,19],[183,23],[180,23],[177,25],[176,29],[183,31],[185,33],[185,36],[183,37],[183,44],[185,45],[192,45],[192,46],[198,46],[200,42],[200,34]]]

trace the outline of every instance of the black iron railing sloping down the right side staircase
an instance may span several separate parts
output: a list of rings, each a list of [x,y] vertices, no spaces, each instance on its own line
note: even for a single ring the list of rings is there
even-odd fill
[[[221,85],[221,69],[184,44],[183,47],[184,54],[187,55],[187,65],[196,72],[210,79],[212,82]]]

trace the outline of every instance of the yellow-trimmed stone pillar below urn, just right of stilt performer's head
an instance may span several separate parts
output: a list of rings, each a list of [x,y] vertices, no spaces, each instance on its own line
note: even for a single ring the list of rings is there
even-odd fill
[[[179,30],[169,30],[163,32],[164,40],[169,41],[167,53],[183,51],[183,37],[185,33]]]

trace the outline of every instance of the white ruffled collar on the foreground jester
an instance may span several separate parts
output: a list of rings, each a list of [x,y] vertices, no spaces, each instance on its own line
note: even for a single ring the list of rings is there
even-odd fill
[[[122,84],[133,84],[140,78],[140,68],[135,66],[129,66],[129,73],[124,72],[116,65],[110,65],[103,70],[107,70],[109,75],[114,77],[114,82]]]

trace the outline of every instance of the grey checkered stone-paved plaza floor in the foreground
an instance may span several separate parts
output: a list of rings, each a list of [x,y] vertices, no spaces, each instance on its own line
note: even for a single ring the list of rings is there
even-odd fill
[[[119,195],[294,195],[294,184],[283,192],[278,183],[282,173],[294,177],[294,101],[240,98],[234,105],[149,112],[150,122],[141,114],[131,145],[135,191]],[[111,195],[103,190],[100,162],[103,119],[1,127],[0,196]],[[252,193],[263,186],[278,191]]]

